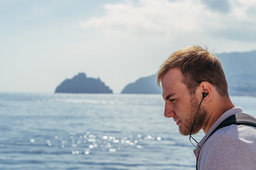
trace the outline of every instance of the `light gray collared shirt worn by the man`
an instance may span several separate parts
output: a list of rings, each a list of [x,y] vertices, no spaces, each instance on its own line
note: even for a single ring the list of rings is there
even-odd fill
[[[256,169],[256,128],[248,125],[230,125],[220,128],[206,141],[217,126],[230,115],[243,113],[235,107],[223,113],[194,149],[198,169]],[[203,143],[206,143],[203,145]],[[202,147],[203,145],[203,147]]]

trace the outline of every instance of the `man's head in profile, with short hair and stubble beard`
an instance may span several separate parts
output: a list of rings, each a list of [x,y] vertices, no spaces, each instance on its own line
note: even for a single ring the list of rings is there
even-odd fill
[[[189,135],[202,93],[209,94],[205,102],[216,96],[228,97],[228,84],[220,61],[201,47],[190,46],[174,52],[161,65],[157,82],[161,83],[166,101],[164,115],[174,118],[182,135]],[[218,100],[211,103],[215,101]],[[206,128],[208,118],[202,104],[192,133]]]

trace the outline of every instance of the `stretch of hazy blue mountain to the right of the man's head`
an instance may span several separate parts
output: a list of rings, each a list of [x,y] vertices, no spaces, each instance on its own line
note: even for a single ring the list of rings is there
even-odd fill
[[[230,94],[256,96],[256,50],[216,56],[223,65]]]

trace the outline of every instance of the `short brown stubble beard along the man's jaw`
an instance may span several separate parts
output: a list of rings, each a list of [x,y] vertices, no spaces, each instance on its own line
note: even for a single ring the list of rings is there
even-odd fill
[[[198,106],[199,103],[196,100],[195,95],[191,95],[191,112],[188,115],[188,118],[184,121],[186,124],[184,124],[184,128],[181,129],[179,128],[179,132],[181,133],[181,135],[190,135],[190,133],[192,135],[196,134],[199,132],[199,130],[202,129],[203,127],[203,122],[206,118],[206,109],[203,108],[203,106],[200,107],[199,111],[198,111]],[[198,115],[196,116],[196,113],[198,111]],[[196,118],[195,124],[193,125],[193,122]],[[193,126],[193,130],[191,132],[191,128]]]

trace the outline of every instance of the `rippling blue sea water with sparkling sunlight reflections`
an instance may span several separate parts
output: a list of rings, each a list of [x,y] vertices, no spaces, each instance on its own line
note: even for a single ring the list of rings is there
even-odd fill
[[[195,169],[161,95],[1,93],[0,115],[0,169]]]

